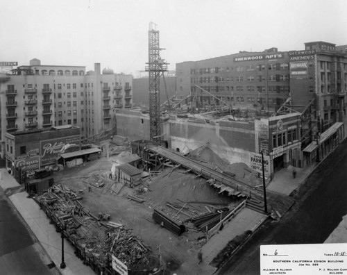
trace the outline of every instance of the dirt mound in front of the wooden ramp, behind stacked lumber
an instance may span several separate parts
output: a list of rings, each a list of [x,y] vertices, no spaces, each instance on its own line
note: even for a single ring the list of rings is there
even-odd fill
[[[162,172],[149,186],[152,191],[147,195],[154,203],[165,205],[167,201],[176,199],[230,203],[230,198],[217,194],[217,190],[206,183],[205,179],[196,178],[192,173],[183,174],[183,169],[171,171],[172,169],[167,169]]]

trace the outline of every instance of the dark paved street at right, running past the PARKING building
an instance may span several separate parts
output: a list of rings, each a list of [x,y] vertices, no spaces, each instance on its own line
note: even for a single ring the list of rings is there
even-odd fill
[[[307,179],[278,223],[260,228],[219,274],[260,274],[260,244],[323,243],[347,214],[347,141]]]

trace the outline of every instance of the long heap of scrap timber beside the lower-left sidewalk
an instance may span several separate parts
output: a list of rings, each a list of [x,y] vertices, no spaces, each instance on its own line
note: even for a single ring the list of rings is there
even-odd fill
[[[158,270],[158,258],[139,237],[123,224],[100,221],[77,198],[76,193],[66,186],[53,185],[48,192],[35,197],[35,201],[57,230],[64,230],[66,238],[76,249],[76,255],[86,265],[93,267],[94,271],[97,268],[103,274],[113,274],[111,255],[114,255],[130,271]],[[107,270],[110,272],[105,272]]]

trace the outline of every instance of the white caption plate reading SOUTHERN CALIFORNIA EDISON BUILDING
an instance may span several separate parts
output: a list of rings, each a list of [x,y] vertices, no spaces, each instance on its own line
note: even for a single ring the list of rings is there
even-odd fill
[[[260,274],[347,275],[347,244],[261,245]]]

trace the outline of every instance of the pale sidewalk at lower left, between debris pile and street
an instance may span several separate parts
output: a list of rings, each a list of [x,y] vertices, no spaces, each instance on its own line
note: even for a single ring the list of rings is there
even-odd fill
[[[18,188],[20,185],[15,181],[6,169],[0,169],[0,185],[1,188],[6,192],[9,188]],[[28,227],[42,244],[46,253],[51,257],[51,260],[59,268],[62,262],[62,240],[60,233],[56,232],[56,228],[53,224],[49,224],[49,219],[46,214],[40,210],[40,206],[35,203],[33,199],[27,198],[28,193],[19,192],[12,194],[10,201],[14,204],[19,214],[23,217]],[[74,248],[64,240],[64,258],[66,267],[60,269],[61,274],[64,275],[95,275],[94,271],[83,265],[83,262],[74,255]]]

